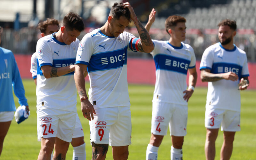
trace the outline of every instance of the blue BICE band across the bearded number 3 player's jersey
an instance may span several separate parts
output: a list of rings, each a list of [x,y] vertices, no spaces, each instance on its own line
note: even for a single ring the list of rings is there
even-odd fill
[[[233,63],[213,63],[211,73],[227,73],[229,71],[234,72],[237,74],[239,79],[241,78],[242,74],[242,66]]]

